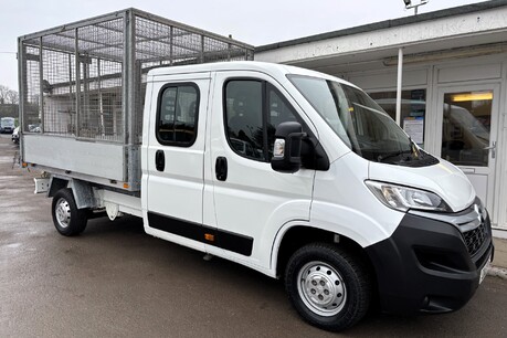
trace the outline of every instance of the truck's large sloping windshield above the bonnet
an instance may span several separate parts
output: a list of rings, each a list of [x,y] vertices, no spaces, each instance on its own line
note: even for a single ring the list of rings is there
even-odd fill
[[[426,155],[365,92],[318,77],[293,75],[289,80],[359,156],[371,161],[404,163]]]

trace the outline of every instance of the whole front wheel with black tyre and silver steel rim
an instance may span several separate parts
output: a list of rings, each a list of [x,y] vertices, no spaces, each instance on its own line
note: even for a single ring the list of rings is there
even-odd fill
[[[372,295],[363,261],[327,243],[308,244],[293,254],[285,270],[285,288],[305,320],[330,331],[358,323]]]

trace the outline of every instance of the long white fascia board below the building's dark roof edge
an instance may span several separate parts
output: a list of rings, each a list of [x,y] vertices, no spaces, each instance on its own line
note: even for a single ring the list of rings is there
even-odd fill
[[[435,45],[439,41],[442,42],[442,49],[462,46],[462,38],[466,38],[468,43],[473,41],[485,43],[485,38],[490,34],[505,34],[506,12],[505,9],[492,9],[410,25],[389,28],[379,24],[377,30],[369,28],[361,33],[262,51],[255,54],[255,60],[291,64],[318,57],[379,52],[393,47],[404,47],[410,53],[418,53],[426,50],[425,43]]]

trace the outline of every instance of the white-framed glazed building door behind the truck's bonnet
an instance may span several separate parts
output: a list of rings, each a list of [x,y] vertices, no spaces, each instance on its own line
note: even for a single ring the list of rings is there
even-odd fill
[[[499,86],[439,91],[440,156],[460,167],[493,214]]]

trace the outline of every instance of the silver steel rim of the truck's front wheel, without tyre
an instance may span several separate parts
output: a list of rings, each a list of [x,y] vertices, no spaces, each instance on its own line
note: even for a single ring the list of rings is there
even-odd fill
[[[305,264],[297,281],[297,292],[313,313],[330,317],[344,308],[347,288],[341,275],[329,264],[318,261]]]

